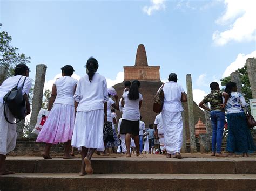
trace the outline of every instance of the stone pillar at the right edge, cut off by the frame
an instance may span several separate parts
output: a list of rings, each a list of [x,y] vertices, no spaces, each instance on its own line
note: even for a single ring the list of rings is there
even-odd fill
[[[256,99],[256,58],[246,60],[247,72],[252,90],[252,98]]]

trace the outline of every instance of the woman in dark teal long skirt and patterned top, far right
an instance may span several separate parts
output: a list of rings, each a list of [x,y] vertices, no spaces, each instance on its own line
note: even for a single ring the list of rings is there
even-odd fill
[[[228,82],[225,91],[230,95],[226,105],[228,123],[226,151],[231,155],[240,152],[243,153],[243,157],[249,157],[248,151],[255,151],[255,146],[242,109],[246,107],[245,98],[237,92],[235,82]]]

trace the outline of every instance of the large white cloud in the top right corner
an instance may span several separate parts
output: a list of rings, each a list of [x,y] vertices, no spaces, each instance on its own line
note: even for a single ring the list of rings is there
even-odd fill
[[[214,43],[223,46],[234,40],[237,42],[256,40],[256,1],[225,0],[226,11],[216,23],[228,26],[225,31],[215,31]]]

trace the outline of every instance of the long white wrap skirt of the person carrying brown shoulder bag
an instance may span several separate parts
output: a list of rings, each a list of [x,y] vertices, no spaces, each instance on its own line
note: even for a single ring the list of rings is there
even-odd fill
[[[168,154],[180,152],[182,146],[182,112],[162,111],[164,144]]]

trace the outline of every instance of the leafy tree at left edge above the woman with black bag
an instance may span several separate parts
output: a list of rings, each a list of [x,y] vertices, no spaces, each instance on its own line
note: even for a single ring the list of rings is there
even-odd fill
[[[0,26],[2,24],[0,23]],[[30,57],[18,53],[18,48],[11,46],[11,36],[8,32],[0,32],[0,65],[8,68],[7,77],[14,74],[14,68],[19,63],[30,63]]]

